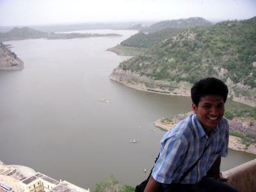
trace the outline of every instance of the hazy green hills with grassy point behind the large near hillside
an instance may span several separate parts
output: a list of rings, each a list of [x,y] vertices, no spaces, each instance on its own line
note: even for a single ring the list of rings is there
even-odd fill
[[[138,28],[140,33],[132,35],[131,37],[121,42],[120,45],[108,49],[109,51],[117,52],[119,54],[140,55],[144,53],[146,49],[153,45],[172,38],[180,31],[191,27],[208,27],[211,26],[211,22],[201,17],[190,17],[189,19],[178,20],[164,20],[152,24],[151,26],[138,25],[134,28]],[[138,49],[139,48],[139,49]]]

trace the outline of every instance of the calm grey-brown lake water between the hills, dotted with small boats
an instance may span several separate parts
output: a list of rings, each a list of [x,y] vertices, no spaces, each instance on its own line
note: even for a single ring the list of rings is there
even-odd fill
[[[111,32],[124,36],[6,42],[25,68],[0,72],[4,163],[30,166],[83,188],[94,188],[110,174],[133,186],[147,177],[143,169],[152,167],[164,135],[153,122],[190,111],[191,100],[110,81],[113,68],[130,57],[106,49],[136,31],[93,31]],[[253,158],[230,150],[222,170]]]

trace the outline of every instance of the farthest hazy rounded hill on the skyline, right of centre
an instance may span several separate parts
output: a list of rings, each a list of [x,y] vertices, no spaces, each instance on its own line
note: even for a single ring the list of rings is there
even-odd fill
[[[211,26],[212,23],[202,17],[189,17],[188,19],[164,20],[152,24],[145,29],[147,32],[161,31],[167,28],[193,28],[195,26]]]

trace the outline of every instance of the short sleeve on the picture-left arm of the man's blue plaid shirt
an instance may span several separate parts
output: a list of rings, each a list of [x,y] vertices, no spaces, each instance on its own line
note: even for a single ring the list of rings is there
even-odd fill
[[[173,172],[180,165],[186,152],[184,140],[168,138],[161,141],[161,153],[154,166],[152,177],[164,184],[170,184]]]

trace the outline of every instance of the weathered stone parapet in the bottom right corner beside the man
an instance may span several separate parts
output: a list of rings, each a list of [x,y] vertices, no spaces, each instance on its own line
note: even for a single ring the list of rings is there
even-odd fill
[[[256,159],[223,172],[227,183],[241,192],[256,191]]]

